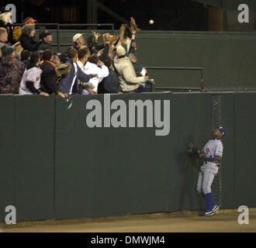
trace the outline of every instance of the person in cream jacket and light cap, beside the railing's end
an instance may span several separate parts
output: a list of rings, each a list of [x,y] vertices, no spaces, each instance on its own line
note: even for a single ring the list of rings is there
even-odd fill
[[[130,58],[126,57],[126,50],[123,46],[116,49],[116,57],[114,59],[114,67],[118,72],[119,83],[123,93],[139,93],[140,83],[144,83],[149,77],[137,77]]]

